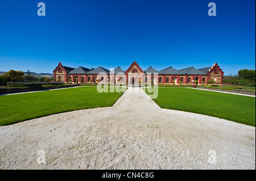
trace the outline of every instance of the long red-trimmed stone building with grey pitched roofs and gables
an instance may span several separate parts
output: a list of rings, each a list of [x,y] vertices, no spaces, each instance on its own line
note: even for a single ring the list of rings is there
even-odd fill
[[[210,79],[215,81],[214,85],[223,85],[224,71],[217,63],[207,68],[196,69],[193,67],[177,70],[172,68],[155,70],[150,67],[142,70],[137,62],[133,62],[130,67],[123,71],[119,66],[114,70],[107,70],[102,67],[88,69],[84,67],[69,68],[63,66],[61,62],[53,70],[53,78],[65,83],[128,83],[146,84],[154,83],[158,85],[198,85],[207,84]]]

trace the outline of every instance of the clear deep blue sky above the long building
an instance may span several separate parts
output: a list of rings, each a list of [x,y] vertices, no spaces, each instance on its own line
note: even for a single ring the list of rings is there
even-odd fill
[[[0,1],[0,71],[52,73],[59,62],[126,70],[134,56],[143,70],[255,69],[255,1]]]

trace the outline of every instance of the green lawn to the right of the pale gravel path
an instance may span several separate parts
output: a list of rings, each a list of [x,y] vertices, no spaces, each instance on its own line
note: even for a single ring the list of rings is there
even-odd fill
[[[159,87],[158,98],[153,100],[161,108],[200,113],[255,127],[255,98],[250,96]]]

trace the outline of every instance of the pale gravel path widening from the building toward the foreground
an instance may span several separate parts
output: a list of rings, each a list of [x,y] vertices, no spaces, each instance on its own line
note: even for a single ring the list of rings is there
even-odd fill
[[[113,107],[0,127],[0,169],[255,169],[255,127],[129,88]]]

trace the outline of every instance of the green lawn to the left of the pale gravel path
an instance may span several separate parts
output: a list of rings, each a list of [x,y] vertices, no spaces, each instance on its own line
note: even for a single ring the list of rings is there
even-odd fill
[[[99,93],[97,87],[31,92],[0,96],[0,125],[60,112],[113,106],[121,93]]]

